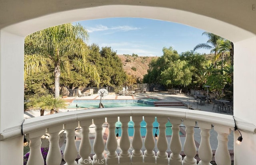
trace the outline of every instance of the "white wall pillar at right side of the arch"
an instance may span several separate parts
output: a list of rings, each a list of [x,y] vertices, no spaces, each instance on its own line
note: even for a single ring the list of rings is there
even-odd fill
[[[256,37],[234,43],[234,116],[256,125]],[[239,129],[239,127],[238,127]],[[241,132],[234,144],[234,165],[256,164],[256,135]],[[234,134],[234,141],[240,136]]]

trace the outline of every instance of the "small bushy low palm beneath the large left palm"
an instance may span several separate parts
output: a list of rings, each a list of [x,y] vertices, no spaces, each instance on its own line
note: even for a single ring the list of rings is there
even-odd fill
[[[44,116],[44,110],[50,110],[50,114],[54,114],[60,108],[66,109],[66,106],[65,100],[53,98],[51,95],[42,96],[36,101],[36,107],[40,108],[40,116]]]

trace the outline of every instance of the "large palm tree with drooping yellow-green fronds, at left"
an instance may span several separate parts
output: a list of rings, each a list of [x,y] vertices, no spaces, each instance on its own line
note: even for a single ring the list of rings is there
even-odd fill
[[[88,62],[87,30],[80,24],[63,24],[43,29],[25,39],[24,77],[54,67],[55,98],[60,96],[60,74],[70,71],[71,64],[83,74],[87,73],[95,84],[100,78],[96,67]]]

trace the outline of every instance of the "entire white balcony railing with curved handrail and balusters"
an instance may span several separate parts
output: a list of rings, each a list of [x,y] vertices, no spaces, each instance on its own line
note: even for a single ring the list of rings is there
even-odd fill
[[[132,143],[128,135],[128,122],[132,117],[134,122],[134,135]],[[157,118],[159,123],[159,135],[157,141],[154,139],[153,122]],[[116,152],[118,142],[115,129],[116,122],[122,123],[122,135],[120,138],[119,155]],[[142,136],[140,134],[140,122],[146,122],[146,136],[144,139],[145,151],[142,152]],[[166,138],[166,123],[172,124],[172,137],[170,146]],[[108,153],[106,157],[103,152],[105,143],[102,136],[102,124],[108,123],[109,134],[106,141]],[[95,139],[91,146],[89,139],[89,127],[95,125]],[[182,160],[180,152],[182,144],[180,141],[179,126],[186,126],[186,138],[184,142],[185,157]],[[237,119],[236,124],[240,130],[256,133],[253,124],[248,124]],[[30,156],[27,165],[44,165],[44,160],[40,150],[41,137],[47,132],[49,138],[49,151],[46,159],[47,165],[60,165],[62,155],[59,147],[59,132],[66,130],[66,147],[64,149],[65,165],[77,165],[77,154],[80,155],[78,165],[85,164],[170,164],[170,165],[196,165],[194,158],[196,155],[196,144],[194,141],[194,127],[198,126],[201,130],[200,146],[198,156],[200,161],[198,165],[209,165],[212,161],[212,149],[210,145],[210,130],[218,133],[218,147],[215,153],[215,161],[218,165],[230,165],[231,159],[228,151],[228,135],[234,129],[234,120],[230,115],[216,114],[211,112],[202,112],[197,110],[188,110],[181,108],[159,108],[159,107],[119,107],[119,108],[101,108],[90,110],[78,110],[72,112],[63,112],[59,114],[40,116],[26,119],[22,131],[30,140]],[[82,130],[82,139],[77,152],[75,143],[75,129],[80,127]],[[4,130],[1,134],[1,140],[6,140],[20,136],[21,126],[16,126]],[[131,146],[132,145],[132,146]],[[130,146],[132,153],[128,151]],[[154,148],[158,151],[155,153]],[[168,156],[167,149],[170,147],[171,154]],[[94,151],[93,161],[90,161],[91,149]],[[88,161],[89,160],[89,161]]]

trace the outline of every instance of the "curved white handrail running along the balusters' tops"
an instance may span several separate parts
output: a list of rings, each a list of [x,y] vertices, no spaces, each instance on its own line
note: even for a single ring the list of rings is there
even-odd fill
[[[183,108],[165,107],[116,107],[62,112],[58,114],[26,119],[22,128],[23,134],[28,134],[30,132],[58,126],[61,124],[115,116],[157,116],[166,118],[178,118],[219,125],[234,130],[234,119],[230,115]],[[239,130],[250,132],[252,134],[256,133],[256,126],[254,124],[244,122],[239,118],[236,118],[236,125]],[[0,134],[0,140],[6,140],[18,136],[21,136],[21,124],[19,126],[14,126],[4,130]]]

